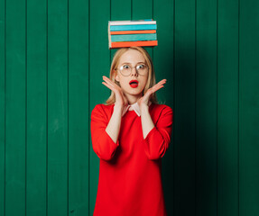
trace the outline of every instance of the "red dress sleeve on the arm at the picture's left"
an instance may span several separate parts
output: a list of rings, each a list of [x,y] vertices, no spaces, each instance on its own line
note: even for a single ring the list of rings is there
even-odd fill
[[[91,112],[91,139],[97,156],[104,160],[114,157],[119,146],[119,141],[115,143],[106,133],[108,121],[101,104],[97,104]]]

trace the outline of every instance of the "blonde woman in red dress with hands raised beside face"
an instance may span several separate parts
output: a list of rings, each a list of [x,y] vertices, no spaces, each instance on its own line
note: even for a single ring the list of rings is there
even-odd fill
[[[156,102],[153,62],[141,47],[116,51],[106,104],[91,112],[93,149],[100,158],[97,216],[165,216],[162,157],[171,141],[171,107]]]

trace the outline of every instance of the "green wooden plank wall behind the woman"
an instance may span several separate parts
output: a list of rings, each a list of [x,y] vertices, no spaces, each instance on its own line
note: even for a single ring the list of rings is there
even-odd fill
[[[92,215],[109,20],[157,21],[169,215],[259,215],[257,0],[0,0],[0,215]]]

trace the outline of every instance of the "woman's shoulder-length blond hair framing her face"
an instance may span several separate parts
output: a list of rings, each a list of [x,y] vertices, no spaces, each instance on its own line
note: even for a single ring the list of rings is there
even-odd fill
[[[151,88],[153,85],[155,85],[155,75],[154,75],[154,70],[153,70],[153,61],[152,58],[150,57],[149,53],[143,49],[142,47],[128,47],[128,48],[121,48],[118,49],[114,55],[111,67],[110,67],[110,79],[116,83],[116,85],[120,86],[120,83],[116,81],[116,68],[118,67],[119,64],[119,59],[120,57],[128,50],[128,49],[136,49],[138,51],[140,51],[143,54],[143,58],[145,58],[145,63],[147,64],[149,71],[148,71],[148,79],[147,79],[147,83],[144,86],[143,89],[143,94],[146,93],[146,91]],[[155,92],[150,96],[150,101],[152,103],[158,103],[157,102],[157,98],[156,98],[156,94]],[[111,95],[109,96],[109,98],[106,100],[106,105],[110,105],[116,102],[116,94],[111,91]]]

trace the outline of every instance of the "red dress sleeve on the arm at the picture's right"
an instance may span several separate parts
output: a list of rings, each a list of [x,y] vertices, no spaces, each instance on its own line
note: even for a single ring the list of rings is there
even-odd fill
[[[164,156],[171,142],[173,112],[170,106],[162,109],[161,115],[143,139],[144,151],[149,159],[158,159]]]

